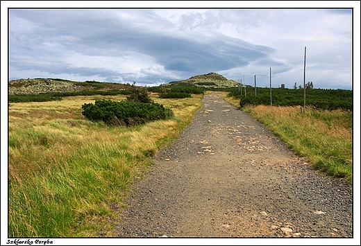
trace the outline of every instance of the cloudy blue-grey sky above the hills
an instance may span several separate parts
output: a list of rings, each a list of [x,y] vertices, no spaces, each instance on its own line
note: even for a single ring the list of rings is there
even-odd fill
[[[269,87],[271,69],[271,87],[293,88],[303,86],[306,57],[306,83],[353,89],[353,10],[342,7],[352,4],[253,6],[11,8],[8,80],[155,86],[215,72],[252,86],[255,76],[258,87]]]

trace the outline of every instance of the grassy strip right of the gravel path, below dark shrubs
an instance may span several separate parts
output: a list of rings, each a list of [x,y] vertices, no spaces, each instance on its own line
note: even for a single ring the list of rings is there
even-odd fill
[[[240,100],[222,97],[237,107]],[[353,114],[345,110],[300,107],[245,106],[244,112],[267,125],[298,155],[308,157],[312,166],[334,177],[353,179]]]

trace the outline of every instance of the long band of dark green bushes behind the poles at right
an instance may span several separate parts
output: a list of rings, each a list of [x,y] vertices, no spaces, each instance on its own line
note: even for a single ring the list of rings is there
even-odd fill
[[[303,106],[303,89],[272,88],[272,105],[274,106]],[[240,99],[240,106],[244,105],[270,105],[271,96],[269,88],[257,88],[255,96],[254,87],[246,87],[242,95],[238,88],[231,89],[228,96]],[[306,106],[318,109],[345,109],[353,110],[353,91],[346,89],[306,89]]]

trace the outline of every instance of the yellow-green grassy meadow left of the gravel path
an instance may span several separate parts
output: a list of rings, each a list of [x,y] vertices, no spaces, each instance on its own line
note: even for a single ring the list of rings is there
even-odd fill
[[[8,131],[8,236],[113,236],[108,223],[151,157],[192,121],[203,95],[160,99],[175,117],[132,128],[88,121],[84,103],[118,96],[73,96],[12,103]]]

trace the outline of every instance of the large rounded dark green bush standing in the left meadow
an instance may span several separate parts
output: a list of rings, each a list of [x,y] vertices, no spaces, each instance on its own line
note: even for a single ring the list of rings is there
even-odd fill
[[[140,103],[131,100],[121,102],[96,100],[95,104],[85,103],[82,109],[85,118],[91,121],[104,121],[107,125],[140,125],[174,116],[171,109],[158,103]]]

